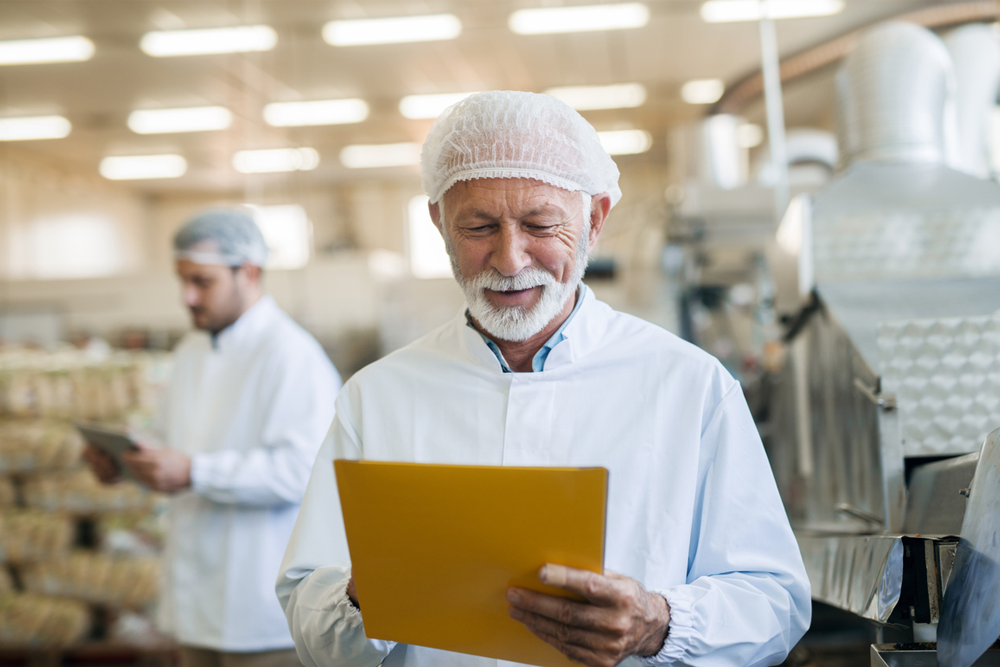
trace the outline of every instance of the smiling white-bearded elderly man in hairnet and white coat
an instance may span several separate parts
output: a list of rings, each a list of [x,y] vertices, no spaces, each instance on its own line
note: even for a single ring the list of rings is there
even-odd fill
[[[549,564],[586,601],[512,588],[510,615],[587,665],[781,662],[809,585],[739,384],[580,283],[621,196],[594,129],[551,97],[477,94],[437,119],[422,172],[468,309],[337,399],[277,586],[303,663],[498,662],[365,636],[338,458],[603,466],[608,570]]]

